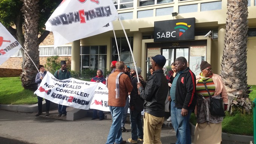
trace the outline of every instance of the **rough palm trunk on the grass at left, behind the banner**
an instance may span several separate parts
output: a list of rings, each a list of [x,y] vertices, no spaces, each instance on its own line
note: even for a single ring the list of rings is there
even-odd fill
[[[21,11],[24,17],[24,59],[22,63],[23,73],[21,74],[22,86],[25,89],[37,89],[35,83],[35,76],[38,73],[37,67],[39,65],[39,44],[38,44],[38,19],[39,0],[21,0],[23,6]],[[29,58],[29,56],[30,59]],[[33,62],[35,65],[33,64]]]

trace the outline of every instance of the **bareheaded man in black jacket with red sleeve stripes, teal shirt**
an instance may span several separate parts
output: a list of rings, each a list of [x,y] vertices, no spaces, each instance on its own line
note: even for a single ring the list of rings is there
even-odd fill
[[[176,76],[170,89],[171,119],[176,131],[176,144],[191,144],[189,118],[195,109],[195,74],[187,67],[184,57],[175,59]]]

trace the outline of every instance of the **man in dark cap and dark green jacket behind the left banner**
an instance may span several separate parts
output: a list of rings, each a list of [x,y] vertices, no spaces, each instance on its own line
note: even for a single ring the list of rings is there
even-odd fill
[[[71,73],[69,70],[67,70],[67,64],[66,61],[61,61],[61,69],[56,70],[54,73],[54,76],[58,80],[64,80],[71,78]],[[57,117],[65,117],[67,115],[67,106],[58,104],[58,112],[59,114]]]

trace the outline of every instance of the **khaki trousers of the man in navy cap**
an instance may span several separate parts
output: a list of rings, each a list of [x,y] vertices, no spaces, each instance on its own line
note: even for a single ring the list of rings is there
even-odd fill
[[[143,144],[162,144],[161,130],[165,117],[144,114]]]

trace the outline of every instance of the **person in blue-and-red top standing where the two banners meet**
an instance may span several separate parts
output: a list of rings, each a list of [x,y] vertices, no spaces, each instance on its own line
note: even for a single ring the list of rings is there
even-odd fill
[[[103,71],[102,70],[97,70],[97,76],[93,77],[91,79],[91,82],[101,82],[103,84],[106,84],[106,79],[103,76]],[[103,111],[99,111],[99,117],[98,117],[98,112],[96,109],[93,109],[93,117],[91,118],[92,120],[95,120],[99,118],[99,120],[104,119],[104,113]]]

